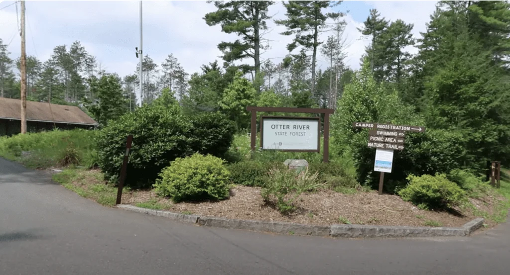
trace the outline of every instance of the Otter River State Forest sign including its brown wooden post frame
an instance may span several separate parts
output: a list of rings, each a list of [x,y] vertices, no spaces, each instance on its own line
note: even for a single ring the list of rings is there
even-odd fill
[[[334,109],[257,107],[248,106],[251,112],[251,150],[256,150],[257,112],[324,114],[324,145],[322,161],[329,162],[329,115]],[[260,147],[262,150],[286,152],[320,152],[320,118],[261,116]]]

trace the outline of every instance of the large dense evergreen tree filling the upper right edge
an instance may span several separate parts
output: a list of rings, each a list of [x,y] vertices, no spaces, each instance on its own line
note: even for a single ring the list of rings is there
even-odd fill
[[[510,87],[505,62],[498,58],[501,45],[510,38],[489,38],[472,28],[473,24],[484,25],[474,20],[508,20],[501,15],[510,6],[481,4],[483,10],[479,4],[439,3],[418,56],[423,65],[419,80],[428,126],[462,133],[469,154],[466,165],[476,168],[482,168],[486,160],[508,162],[510,154],[510,110],[506,107]],[[484,26],[484,31],[491,32],[490,24]],[[493,28],[494,33],[501,31],[497,23]]]

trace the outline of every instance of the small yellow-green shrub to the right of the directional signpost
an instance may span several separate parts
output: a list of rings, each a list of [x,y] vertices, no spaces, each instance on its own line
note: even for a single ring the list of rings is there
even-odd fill
[[[399,191],[404,201],[410,201],[422,209],[444,209],[458,206],[466,201],[466,193],[444,174],[436,176],[410,175],[409,185]]]

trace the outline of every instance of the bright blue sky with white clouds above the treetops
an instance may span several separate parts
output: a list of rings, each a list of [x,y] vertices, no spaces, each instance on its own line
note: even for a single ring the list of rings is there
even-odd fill
[[[11,58],[20,55],[19,3],[0,2],[0,39],[8,44]],[[360,58],[369,43],[357,30],[369,15],[370,9],[377,9],[381,16],[394,21],[402,19],[413,23],[413,35],[420,37],[436,1],[344,1],[333,8],[346,13],[344,32],[347,58],[345,62],[352,69],[360,68]],[[80,41],[85,49],[95,56],[101,68],[116,72],[120,76],[133,74],[138,64],[135,47],[140,44],[139,1],[27,1],[26,9],[26,51],[41,61],[47,60],[57,45],[70,45]],[[161,64],[172,53],[188,73],[199,72],[202,64],[221,61],[217,45],[221,41],[234,41],[235,34],[221,32],[219,25],[209,26],[203,17],[215,11],[214,4],[206,1],[143,1],[143,53]],[[281,1],[270,6],[273,19],[285,17]],[[283,36],[285,28],[273,21],[268,23],[271,48],[261,56],[262,61],[271,59],[281,62],[288,53],[286,45],[292,36]],[[325,40],[333,33],[324,32]],[[412,53],[415,48],[408,49]],[[246,62],[253,62],[248,60]],[[220,62],[221,64],[221,62]],[[326,69],[327,61],[318,57],[318,69]]]

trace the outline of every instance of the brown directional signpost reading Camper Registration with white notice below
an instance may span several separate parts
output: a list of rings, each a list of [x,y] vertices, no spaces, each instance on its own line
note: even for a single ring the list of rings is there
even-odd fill
[[[370,129],[368,131],[367,146],[377,149],[375,151],[374,171],[380,173],[379,195],[381,195],[384,173],[391,173],[393,166],[393,151],[404,149],[405,132],[425,132],[425,127],[371,122],[354,122],[352,127]]]

